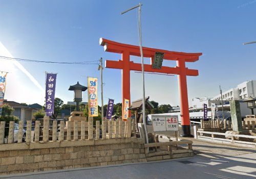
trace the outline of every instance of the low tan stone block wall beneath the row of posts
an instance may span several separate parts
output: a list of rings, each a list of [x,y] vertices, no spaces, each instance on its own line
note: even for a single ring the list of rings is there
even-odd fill
[[[0,144],[0,174],[146,162],[143,139]]]

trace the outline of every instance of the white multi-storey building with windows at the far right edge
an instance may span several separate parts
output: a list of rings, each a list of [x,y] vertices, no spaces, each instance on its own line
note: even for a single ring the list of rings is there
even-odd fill
[[[256,97],[256,81],[250,80],[239,84],[236,88],[231,88],[222,92],[223,100],[244,99],[246,97]],[[221,95],[218,94],[212,99],[221,100]]]

